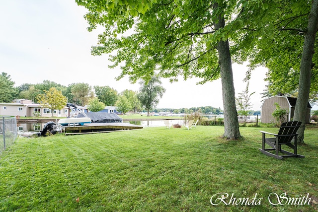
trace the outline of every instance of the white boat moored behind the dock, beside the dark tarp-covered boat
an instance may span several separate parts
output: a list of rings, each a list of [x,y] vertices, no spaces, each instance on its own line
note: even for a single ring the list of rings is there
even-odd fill
[[[62,126],[69,126],[69,125],[84,125],[91,123],[91,120],[89,117],[86,116],[85,113],[83,113],[76,105],[72,103],[67,103],[67,107],[72,109],[72,113],[70,114],[72,118],[66,118],[66,119],[60,119],[59,125]],[[81,114],[82,117],[78,117],[78,115]]]

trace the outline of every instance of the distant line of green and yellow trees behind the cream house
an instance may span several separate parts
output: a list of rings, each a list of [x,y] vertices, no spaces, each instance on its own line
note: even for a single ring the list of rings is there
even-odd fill
[[[11,103],[13,99],[29,99],[33,103],[60,109],[66,103],[87,106],[92,112],[101,111],[105,106],[116,106],[117,111],[150,111],[157,106],[165,89],[161,86],[159,76],[154,75],[148,81],[140,82],[139,91],[124,90],[120,93],[110,86],[93,86],[88,83],[71,83],[68,86],[54,81],[43,80],[42,83],[23,83],[14,87],[10,75],[0,75],[0,102]],[[58,106],[57,106],[58,105]]]

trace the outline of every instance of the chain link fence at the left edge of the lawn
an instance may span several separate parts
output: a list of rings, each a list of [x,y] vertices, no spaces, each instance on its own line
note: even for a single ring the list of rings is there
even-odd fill
[[[16,118],[7,116],[0,117],[0,153],[12,145],[17,137]]]

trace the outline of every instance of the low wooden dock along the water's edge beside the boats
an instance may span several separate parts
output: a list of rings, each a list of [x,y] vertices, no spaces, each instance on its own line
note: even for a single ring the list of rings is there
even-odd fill
[[[123,130],[143,129],[142,126],[130,123],[89,123],[83,126],[64,127],[65,135],[79,135],[92,133],[110,133]]]

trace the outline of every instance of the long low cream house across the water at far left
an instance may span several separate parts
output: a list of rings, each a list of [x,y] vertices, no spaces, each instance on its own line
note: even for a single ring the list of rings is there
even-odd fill
[[[62,110],[54,110],[54,116],[67,117],[69,108],[64,107]],[[0,103],[0,116],[24,116],[24,117],[51,117],[51,109],[32,104],[28,99],[14,99],[12,103]]]

